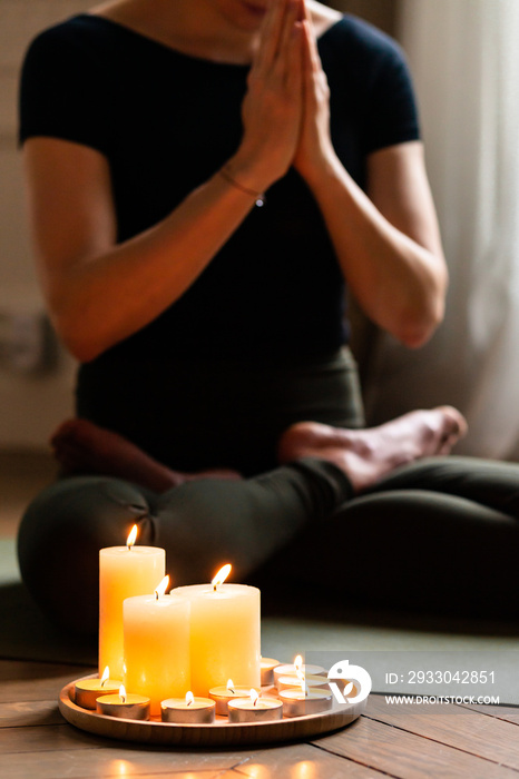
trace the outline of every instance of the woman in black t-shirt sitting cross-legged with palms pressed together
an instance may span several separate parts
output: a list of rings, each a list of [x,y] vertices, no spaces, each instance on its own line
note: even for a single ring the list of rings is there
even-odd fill
[[[344,283],[411,347],[443,312],[394,43],[303,0],[121,0],[33,42],[21,140],[42,287],[81,363],[79,418],[53,445],[65,474],[87,474],[23,517],[20,568],[42,608],[77,627],[81,595],[94,629],[98,549],[137,516],[176,583],[224,559],[237,578],[276,570],[288,550],[287,575],[346,592],[370,555],[370,598],[383,582],[438,608],[454,588],[450,605],[484,610],[473,560],[420,583],[445,543],[515,551],[517,469],[427,458],[464,432],[449,407],[362,430],[344,348]],[[347,576],[339,538],[363,550]],[[301,571],[309,544],[317,574]],[[492,605],[509,584],[496,569]]]

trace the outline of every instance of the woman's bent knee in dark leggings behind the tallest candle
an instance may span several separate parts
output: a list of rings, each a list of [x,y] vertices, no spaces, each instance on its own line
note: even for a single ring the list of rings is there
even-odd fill
[[[96,630],[99,550],[124,544],[134,523],[140,543],[151,543],[149,511],[138,487],[101,476],[57,482],[32,501],[18,533],[20,572],[53,622]]]

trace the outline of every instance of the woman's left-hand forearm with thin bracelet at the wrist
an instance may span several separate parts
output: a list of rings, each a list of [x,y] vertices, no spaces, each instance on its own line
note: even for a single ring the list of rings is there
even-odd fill
[[[251,190],[260,178],[233,160],[228,169]],[[47,296],[71,353],[92,359],[156,318],[196,280],[254,205],[253,195],[217,172],[145,233],[57,264],[47,273]]]

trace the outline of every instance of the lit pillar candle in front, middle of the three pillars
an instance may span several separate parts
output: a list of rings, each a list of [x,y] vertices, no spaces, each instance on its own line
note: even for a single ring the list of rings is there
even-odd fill
[[[160,701],[179,698],[189,689],[189,600],[165,595],[165,576],[154,595],[128,598],[124,603],[125,684],[147,696],[151,714]]]

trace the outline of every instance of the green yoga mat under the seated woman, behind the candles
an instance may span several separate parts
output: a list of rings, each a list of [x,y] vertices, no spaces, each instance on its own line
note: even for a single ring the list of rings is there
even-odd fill
[[[509,623],[355,609],[300,591],[264,599],[262,652],[281,662],[302,653],[325,668],[347,660],[369,671],[375,692],[499,694],[501,703],[519,706],[519,625]],[[94,641],[59,632],[38,610],[20,581],[13,540],[0,540],[0,658],[97,663]],[[466,669],[493,672],[493,679],[464,684],[461,676],[448,689],[439,683]],[[422,684],[418,676],[410,683],[413,671],[442,676]]]

